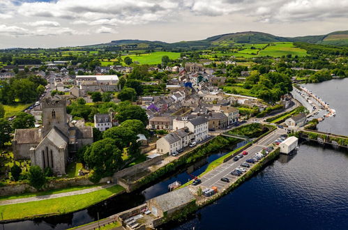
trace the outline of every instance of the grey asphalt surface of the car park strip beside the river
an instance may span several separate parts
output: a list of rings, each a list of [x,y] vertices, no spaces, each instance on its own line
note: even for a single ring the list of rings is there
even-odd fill
[[[286,131],[283,129],[277,129],[271,132],[270,134],[266,135],[266,137],[260,139],[256,144],[252,144],[249,148],[247,148],[245,151],[248,151],[248,155],[244,156],[244,158],[241,158],[240,160],[234,162],[232,159],[228,162],[220,164],[220,166],[216,167],[212,171],[210,171],[207,174],[204,174],[202,178],[202,184],[203,187],[218,187],[218,191],[223,190],[224,187],[227,187],[229,183],[232,183],[236,181],[238,177],[232,176],[231,171],[234,169],[240,167],[240,165],[245,162],[245,160],[252,158],[257,152],[262,151],[262,148],[268,146],[269,144],[273,143],[276,139],[280,137],[280,135],[285,134]],[[245,168],[246,169],[246,168]],[[248,170],[248,169],[247,169]],[[229,178],[229,183],[225,183],[220,181],[222,177]],[[194,185],[192,185],[194,186]]]

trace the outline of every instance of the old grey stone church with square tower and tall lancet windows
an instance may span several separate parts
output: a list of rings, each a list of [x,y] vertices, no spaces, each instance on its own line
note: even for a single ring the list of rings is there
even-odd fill
[[[59,96],[44,98],[43,127],[15,130],[13,155],[15,159],[30,159],[32,165],[54,174],[66,174],[68,157],[79,148],[93,143],[93,129],[68,120],[66,100]]]

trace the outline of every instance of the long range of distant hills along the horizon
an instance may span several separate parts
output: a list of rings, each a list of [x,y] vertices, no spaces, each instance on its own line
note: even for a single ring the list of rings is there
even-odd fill
[[[301,36],[294,38],[274,36],[269,33],[257,31],[245,31],[238,33],[226,33],[206,38],[204,40],[181,41],[178,43],[165,43],[149,40],[112,40],[110,43],[89,45],[88,47],[121,46],[153,49],[162,47],[164,49],[203,49],[212,46],[229,46],[233,44],[257,44],[257,43],[281,43],[281,42],[303,42],[322,45],[348,45],[348,31],[335,31],[326,35]]]

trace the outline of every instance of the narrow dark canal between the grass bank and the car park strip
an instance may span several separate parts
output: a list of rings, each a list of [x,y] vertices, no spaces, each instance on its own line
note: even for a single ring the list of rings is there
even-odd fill
[[[21,222],[12,222],[8,224],[3,224],[4,229],[68,229],[72,227],[77,227],[82,224],[93,222],[98,220],[98,215],[100,219],[109,217],[116,213],[120,213],[123,210],[128,210],[129,208],[134,208],[140,204],[153,197],[157,197],[160,194],[168,192],[168,185],[174,181],[181,181],[181,183],[186,183],[191,179],[190,175],[198,176],[201,174],[210,162],[216,160],[222,155],[229,153],[230,151],[239,148],[246,144],[246,141],[241,141],[238,144],[231,146],[231,149],[226,149],[224,151],[218,151],[209,155],[209,157],[195,162],[195,164],[190,165],[187,169],[181,169],[174,173],[172,176],[161,178],[157,183],[153,183],[148,187],[145,187],[139,191],[132,192],[130,194],[121,194],[112,199],[108,199],[99,204],[86,208],[84,210],[77,211],[75,213],[70,213],[66,215],[38,218],[36,220],[26,220]]]

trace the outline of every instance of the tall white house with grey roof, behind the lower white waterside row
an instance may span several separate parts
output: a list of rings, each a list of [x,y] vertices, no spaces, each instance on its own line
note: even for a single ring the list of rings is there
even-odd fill
[[[207,118],[198,116],[192,120],[181,117],[173,120],[173,130],[179,130],[187,127],[190,132],[195,135],[195,141],[200,142],[208,137],[208,125],[209,121]]]

